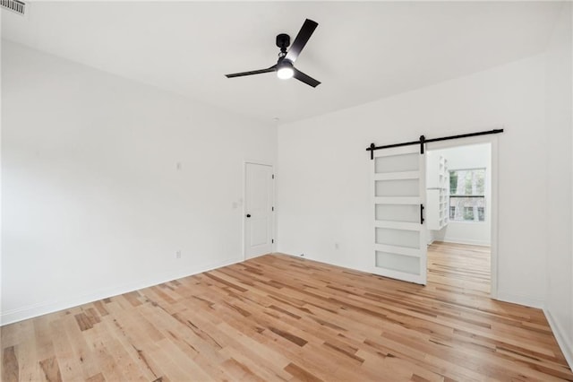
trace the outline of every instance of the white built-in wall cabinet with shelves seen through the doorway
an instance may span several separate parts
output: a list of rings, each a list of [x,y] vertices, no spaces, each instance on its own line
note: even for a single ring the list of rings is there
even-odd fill
[[[439,154],[427,152],[426,158],[426,223],[428,230],[441,230],[449,219],[448,161]]]

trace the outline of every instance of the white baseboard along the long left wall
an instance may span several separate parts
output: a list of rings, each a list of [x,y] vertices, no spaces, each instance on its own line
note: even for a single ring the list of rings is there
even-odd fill
[[[138,282],[130,282],[112,288],[104,288],[90,294],[73,296],[66,300],[41,302],[38,304],[29,305],[27,307],[8,310],[0,314],[0,326],[13,324],[28,318],[43,316],[49,313],[57,312],[59,310],[78,307],[83,304],[107,299],[108,297],[117,296],[119,294],[124,294],[130,291],[138,291],[143,288],[149,288],[150,286],[158,285],[163,282],[170,282],[172,280],[180,279],[192,274],[208,272],[210,270],[239,263],[241,261],[243,261],[242,258],[235,256],[222,262],[218,262],[217,264],[205,265],[201,267],[201,269],[178,269],[173,272],[162,273],[148,279],[140,280]]]

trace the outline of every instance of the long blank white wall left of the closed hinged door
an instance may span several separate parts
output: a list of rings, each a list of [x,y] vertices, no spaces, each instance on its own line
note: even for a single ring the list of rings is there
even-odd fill
[[[2,127],[4,324],[243,260],[276,161],[274,126],[6,41]]]

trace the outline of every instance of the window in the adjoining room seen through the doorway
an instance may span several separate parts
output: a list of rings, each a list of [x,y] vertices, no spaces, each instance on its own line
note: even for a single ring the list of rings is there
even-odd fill
[[[449,220],[485,221],[485,169],[449,171]]]

